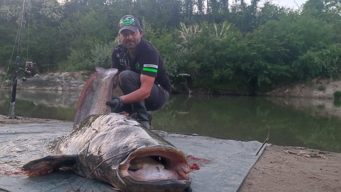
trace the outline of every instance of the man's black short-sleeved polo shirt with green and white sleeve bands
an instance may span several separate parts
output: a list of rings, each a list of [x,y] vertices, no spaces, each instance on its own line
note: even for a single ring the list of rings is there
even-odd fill
[[[149,41],[141,38],[134,60],[130,57],[128,49],[122,44],[114,48],[111,58],[112,68],[117,68],[119,71],[131,70],[138,74],[155,77],[154,83],[170,92],[170,79],[167,76],[161,55]]]

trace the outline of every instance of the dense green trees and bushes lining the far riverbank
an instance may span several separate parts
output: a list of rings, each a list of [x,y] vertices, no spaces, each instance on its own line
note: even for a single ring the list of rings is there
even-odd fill
[[[0,0],[2,68],[10,63],[22,2]],[[341,74],[340,0],[307,0],[298,9],[271,0],[26,2],[20,61],[37,63],[38,73],[110,67],[118,20],[132,14],[172,83],[185,89],[251,93]]]

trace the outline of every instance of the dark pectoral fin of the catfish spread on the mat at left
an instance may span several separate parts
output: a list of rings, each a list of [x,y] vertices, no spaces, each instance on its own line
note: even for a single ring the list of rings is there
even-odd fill
[[[72,167],[76,163],[76,155],[53,155],[36,159],[22,166],[22,173],[30,176],[50,173],[62,167]]]

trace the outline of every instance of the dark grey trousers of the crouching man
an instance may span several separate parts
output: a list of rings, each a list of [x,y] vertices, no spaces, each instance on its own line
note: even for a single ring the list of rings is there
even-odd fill
[[[119,74],[119,87],[124,95],[130,94],[141,87],[140,74],[133,71],[122,71]],[[164,90],[160,85],[153,84],[150,96],[144,100],[130,104],[124,104],[121,108],[116,109],[115,113],[128,112],[129,114],[137,113],[137,117],[146,121],[145,114],[147,111],[155,111],[160,109],[168,101],[169,92]],[[139,115],[140,114],[140,115]],[[139,119],[137,119],[139,121]]]

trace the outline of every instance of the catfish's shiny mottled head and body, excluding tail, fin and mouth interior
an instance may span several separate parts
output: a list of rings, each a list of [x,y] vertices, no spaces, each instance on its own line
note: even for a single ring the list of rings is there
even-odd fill
[[[185,155],[126,115],[90,115],[56,147],[56,154],[78,155],[79,164],[72,171],[83,177],[91,173],[104,159],[120,153],[123,154],[98,167],[90,178],[128,192],[177,192],[190,185],[190,169]],[[127,172],[131,160],[148,155],[160,156],[165,167],[179,174],[178,178],[159,181],[149,181],[148,178],[135,180]]]

